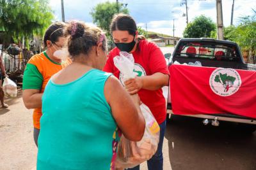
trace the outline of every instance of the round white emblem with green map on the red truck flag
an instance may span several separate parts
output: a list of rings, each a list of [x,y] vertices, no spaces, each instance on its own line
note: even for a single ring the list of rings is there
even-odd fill
[[[231,96],[241,86],[241,77],[235,69],[217,68],[210,76],[212,91],[219,96]]]

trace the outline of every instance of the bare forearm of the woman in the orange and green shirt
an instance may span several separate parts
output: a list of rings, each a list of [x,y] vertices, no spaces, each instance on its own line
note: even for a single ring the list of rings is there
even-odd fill
[[[27,99],[24,99],[23,101],[28,109],[35,109],[35,108],[41,108],[42,107],[42,93],[33,94],[32,96],[28,97]]]

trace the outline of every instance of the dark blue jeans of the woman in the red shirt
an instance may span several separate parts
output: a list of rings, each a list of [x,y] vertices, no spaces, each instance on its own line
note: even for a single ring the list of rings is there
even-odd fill
[[[147,161],[148,170],[163,170],[163,141],[164,141],[164,132],[165,132],[166,120],[162,124],[159,125],[160,127],[160,137],[159,137],[159,144],[157,146],[157,151],[153,157]],[[129,168],[129,170],[140,170],[140,165],[136,167]]]

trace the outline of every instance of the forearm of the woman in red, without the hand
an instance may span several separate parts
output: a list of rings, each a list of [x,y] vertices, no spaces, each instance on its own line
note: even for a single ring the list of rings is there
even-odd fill
[[[158,90],[169,84],[169,75],[163,73],[154,73],[150,76],[141,76],[142,89]]]

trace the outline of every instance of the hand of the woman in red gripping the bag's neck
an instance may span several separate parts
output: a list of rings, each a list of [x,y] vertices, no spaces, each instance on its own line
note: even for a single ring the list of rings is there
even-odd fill
[[[124,82],[125,89],[129,92],[129,94],[136,94],[143,87],[143,81],[141,77],[136,76],[135,78],[131,78]]]

